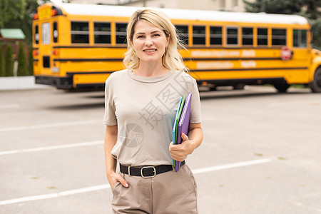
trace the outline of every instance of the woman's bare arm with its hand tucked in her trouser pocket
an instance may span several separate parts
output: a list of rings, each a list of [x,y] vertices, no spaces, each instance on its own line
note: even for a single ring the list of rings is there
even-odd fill
[[[115,126],[106,126],[106,135],[105,135],[105,158],[106,158],[106,175],[111,185],[111,188],[116,182],[120,182],[123,186],[128,187],[128,183],[123,177],[116,173],[117,161],[113,156],[111,156],[111,150],[117,142],[117,125]]]

